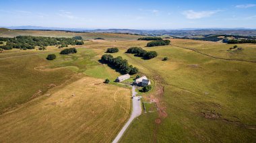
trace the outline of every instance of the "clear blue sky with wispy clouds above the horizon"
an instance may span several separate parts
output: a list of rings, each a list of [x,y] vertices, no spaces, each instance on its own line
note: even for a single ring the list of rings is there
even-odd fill
[[[256,1],[0,0],[0,26],[139,30],[256,28]]]

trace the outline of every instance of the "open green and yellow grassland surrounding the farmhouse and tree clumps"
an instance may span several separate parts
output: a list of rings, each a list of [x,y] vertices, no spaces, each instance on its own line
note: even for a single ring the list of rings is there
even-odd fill
[[[256,45],[170,39],[168,46],[146,47],[129,34],[90,34],[2,30],[1,37],[82,36],[77,53],[40,50],[0,53],[1,142],[111,142],[131,111],[131,91],[113,83],[120,74],[100,57],[117,47],[152,80],[139,93],[146,113],[133,121],[121,142],[254,142],[256,140]],[[94,40],[94,38],[105,40]],[[228,49],[234,45],[241,51]],[[156,51],[145,60],[125,53],[138,46]],[[55,53],[55,60],[46,60]],[[162,58],[168,57],[168,60]],[[104,84],[104,79],[110,84]],[[33,133],[33,134],[32,134]]]

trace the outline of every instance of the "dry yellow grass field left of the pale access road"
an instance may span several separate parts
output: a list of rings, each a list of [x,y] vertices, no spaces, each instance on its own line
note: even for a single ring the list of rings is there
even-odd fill
[[[1,115],[0,142],[111,142],[130,108],[129,89],[83,77]]]

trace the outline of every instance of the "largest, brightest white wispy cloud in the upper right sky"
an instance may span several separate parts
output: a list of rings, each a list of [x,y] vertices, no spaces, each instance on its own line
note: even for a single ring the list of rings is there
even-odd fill
[[[218,13],[220,10],[216,11],[193,11],[193,10],[188,10],[188,11],[183,11],[183,15],[187,17],[187,19],[200,19],[203,17],[210,17],[214,15],[215,13]]]

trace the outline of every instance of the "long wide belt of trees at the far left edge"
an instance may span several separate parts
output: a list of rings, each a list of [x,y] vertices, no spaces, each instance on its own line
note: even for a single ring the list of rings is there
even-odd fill
[[[78,37],[74,38],[52,38],[52,37],[42,37],[42,36],[17,36],[15,38],[1,38],[0,41],[5,41],[5,46],[0,46],[5,50],[10,50],[12,48],[20,49],[34,49],[35,46],[56,46],[56,45],[82,45],[83,41],[76,40]],[[78,38],[80,39],[80,38]]]

